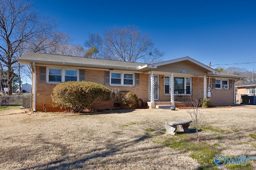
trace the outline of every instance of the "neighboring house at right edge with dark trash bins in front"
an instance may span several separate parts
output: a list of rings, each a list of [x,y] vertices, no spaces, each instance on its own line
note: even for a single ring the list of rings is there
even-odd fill
[[[238,102],[241,104],[256,104],[255,103],[255,94],[256,94],[256,81],[243,83],[238,86],[237,88],[237,96]]]

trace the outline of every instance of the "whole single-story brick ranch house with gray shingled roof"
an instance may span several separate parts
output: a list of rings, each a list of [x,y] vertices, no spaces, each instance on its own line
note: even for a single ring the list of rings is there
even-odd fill
[[[155,64],[27,53],[20,64],[32,67],[33,111],[60,111],[52,106],[52,89],[69,80],[91,81],[110,90],[134,92],[145,105],[187,106],[192,98],[209,98],[214,106],[235,104],[234,82],[239,76],[222,75],[190,57]],[[112,102],[99,109],[113,108]]]

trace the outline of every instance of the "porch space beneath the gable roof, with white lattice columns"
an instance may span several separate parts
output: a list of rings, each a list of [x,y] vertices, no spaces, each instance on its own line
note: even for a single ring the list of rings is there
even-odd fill
[[[192,83],[195,89],[192,89]],[[160,105],[166,105],[166,108],[169,106],[189,107],[193,98],[207,98],[210,92],[205,75],[195,77],[192,74],[184,76],[171,73],[168,76],[168,73],[154,74],[152,72],[149,85],[149,108],[158,108]]]

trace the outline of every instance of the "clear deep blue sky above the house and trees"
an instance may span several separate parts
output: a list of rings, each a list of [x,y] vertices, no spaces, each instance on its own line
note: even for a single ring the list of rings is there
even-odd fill
[[[82,45],[88,33],[134,25],[149,34],[164,60],[189,56],[203,64],[256,62],[253,0],[35,0],[40,15]],[[217,66],[217,65],[216,65]],[[213,66],[213,68],[216,68]],[[224,65],[256,70],[256,63]]]

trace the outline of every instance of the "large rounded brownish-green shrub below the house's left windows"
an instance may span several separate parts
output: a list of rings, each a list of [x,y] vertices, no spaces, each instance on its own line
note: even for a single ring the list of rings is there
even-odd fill
[[[86,107],[93,110],[95,104],[110,100],[110,93],[108,88],[98,83],[69,81],[57,84],[51,96],[53,106],[81,112]]]

